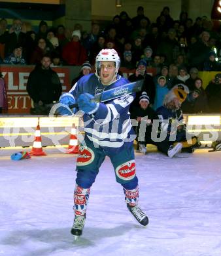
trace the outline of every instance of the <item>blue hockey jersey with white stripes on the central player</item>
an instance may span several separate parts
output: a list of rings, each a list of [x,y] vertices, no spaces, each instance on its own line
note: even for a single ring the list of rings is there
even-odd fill
[[[73,86],[71,93],[75,99],[82,93],[96,95],[102,91],[113,89],[128,83],[120,75],[110,85],[103,85],[95,74],[84,75]],[[135,139],[129,106],[135,95],[126,95],[104,103],[99,103],[93,115],[84,114],[84,131],[88,139],[104,148],[120,148],[124,142]]]

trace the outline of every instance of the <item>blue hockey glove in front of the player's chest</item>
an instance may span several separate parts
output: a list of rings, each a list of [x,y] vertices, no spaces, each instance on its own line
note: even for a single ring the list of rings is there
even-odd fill
[[[77,99],[78,108],[88,115],[95,113],[99,108],[99,103],[93,102],[93,98],[93,95],[89,93],[82,93]]]

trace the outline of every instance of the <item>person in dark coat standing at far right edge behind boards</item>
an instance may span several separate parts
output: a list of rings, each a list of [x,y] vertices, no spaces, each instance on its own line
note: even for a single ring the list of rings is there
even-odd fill
[[[207,93],[209,111],[211,113],[221,112],[221,74],[216,74],[213,81],[207,85],[205,92]]]

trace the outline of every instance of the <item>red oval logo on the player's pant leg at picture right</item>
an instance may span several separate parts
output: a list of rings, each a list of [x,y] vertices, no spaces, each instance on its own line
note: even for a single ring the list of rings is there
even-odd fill
[[[116,167],[116,175],[125,181],[133,179],[136,175],[135,160],[127,161]]]

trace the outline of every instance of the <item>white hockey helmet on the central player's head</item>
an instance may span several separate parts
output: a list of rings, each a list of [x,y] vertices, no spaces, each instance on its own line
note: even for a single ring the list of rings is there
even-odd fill
[[[120,57],[118,56],[118,53],[114,49],[102,49],[95,59],[95,70],[96,75],[99,77],[99,72],[101,70],[101,61],[113,61],[115,62],[115,68],[116,72],[118,73],[118,70],[120,68]]]

